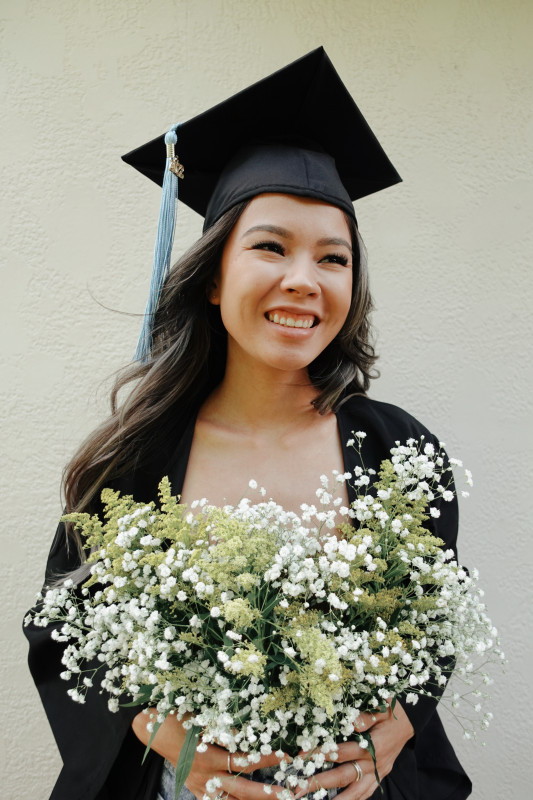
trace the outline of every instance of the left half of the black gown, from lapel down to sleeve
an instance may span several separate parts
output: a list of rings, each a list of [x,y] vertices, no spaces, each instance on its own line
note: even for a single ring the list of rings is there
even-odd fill
[[[185,474],[194,421],[191,410],[176,408],[169,413],[154,434],[149,459],[113,479],[112,488],[143,502],[157,500],[163,475],[171,469],[178,476]],[[179,494],[179,482],[173,482],[173,491]],[[48,556],[45,585],[78,566],[76,548],[60,523]],[[109,711],[107,695],[99,693],[98,685],[88,690],[84,704],[75,703],[67,694],[75,681],[59,677],[65,669],[61,663],[65,645],[51,638],[52,627],[30,624],[24,628],[30,671],[63,760],[50,800],[154,800],[163,759],[150,750],[143,763],[144,745],[131,729],[140,708]]]

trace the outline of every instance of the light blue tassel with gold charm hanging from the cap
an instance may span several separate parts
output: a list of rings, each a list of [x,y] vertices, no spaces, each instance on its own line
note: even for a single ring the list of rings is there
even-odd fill
[[[179,125],[179,123],[178,123]],[[176,131],[178,125],[173,125],[165,136],[167,146],[167,161],[165,177],[163,179],[163,194],[159,209],[159,223],[157,225],[157,239],[154,248],[154,266],[152,280],[150,281],[150,294],[144,312],[143,326],[135,351],[135,361],[148,361],[152,344],[152,329],[154,315],[159,303],[161,288],[170,270],[170,257],[174,242],[174,229],[176,227],[176,205],[178,201],[178,175],[183,177],[183,167],[175,157],[174,146],[178,141]]]

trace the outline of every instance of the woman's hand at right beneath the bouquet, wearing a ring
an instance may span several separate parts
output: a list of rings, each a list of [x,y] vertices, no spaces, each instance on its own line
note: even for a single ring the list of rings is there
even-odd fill
[[[414,729],[400,703],[390,710],[375,714],[361,714],[357,719],[356,730],[371,731],[372,742],[376,751],[376,766],[380,780],[391,771],[400,751],[414,736]],[[357,761],[362,771],[358,772],[353,764]],[[299,790],[295,797],[303,797],[306,792],[316,792],[320,788],[344,788],[336,800],[367,800],[377,789],[378,783],[374,773],[374,762],[367,749],[357,742],[343,742],[337,748],[335,767],[327,772],[320,772],[309,779],[307,789]]]

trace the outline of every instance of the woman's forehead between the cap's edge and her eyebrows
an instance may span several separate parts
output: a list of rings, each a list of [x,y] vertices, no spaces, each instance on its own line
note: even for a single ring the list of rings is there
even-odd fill
[[[243,235],[250,227],[275,225],[291,234],[316,232],[344,236],[351,240],[344,212],[336,206],[309,197],[289,194],[260,194],[254,197],[241,214],[234,232]]]

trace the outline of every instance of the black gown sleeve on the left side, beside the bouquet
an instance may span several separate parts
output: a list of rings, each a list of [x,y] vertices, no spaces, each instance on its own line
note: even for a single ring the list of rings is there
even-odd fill
[[[76,548],[68,544],[60,523],[50,550],[45,584],[79,565]],[[59,628],[61,623],[55,625]],[[24,632],[29,641],[28,663],[52,728],[63,768],[50,800],[148,800],[155,797],[162,759],[150,752],[144,765],[143,745],[131,730],[139,708],[112,713],[107,696],[95,685],[84,704],[67,689],[75,681],[61,679],[64,644],[51,638],[54,625],[33,624]],[[95,664],[96,665],[96,664]]]

